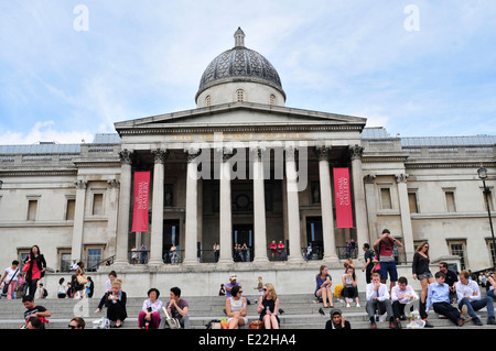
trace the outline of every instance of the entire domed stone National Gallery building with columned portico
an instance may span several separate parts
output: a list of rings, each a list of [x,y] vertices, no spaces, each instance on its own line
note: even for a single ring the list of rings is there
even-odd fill
[[[47,282],[77,260],[97,288],[118,272],[130,296],[216,295],[233,272],[313,293],[321,264],[338,282],[352,256],[362,274],[362,246],[385,228],[408,278],[423,241],[431,263],[495,265],[496,135],[390,136],[366,118],[285,107],[240,29],[195,100],[90,143],[0,145],[0,267],[36,244],[56,272]]]

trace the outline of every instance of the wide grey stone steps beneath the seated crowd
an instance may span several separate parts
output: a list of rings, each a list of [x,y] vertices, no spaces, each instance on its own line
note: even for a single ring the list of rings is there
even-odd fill
[[[485,294],[483,293],[483,296]],[[224,306],[225,297],[208,296],[208,297],[187,297],[184,298],[190,304],[190,321],[193,329],[206,329],[208,321],[219,318],[225,318]],[[248,319],[257,320],[257,298],[258,296],[247,296],[250,300],[248,305]],[[169,297],[161,298],[166,301]],[[320,304],[312,295],[280,295],[280,308],[283,314],[280,315],[281,329],[324,329],[325,322],[330,319],[331,308],[322,308],[324,316],[321,315]],[[339,298],[341,299],[341,298]],[[36,299],[35,305],[41,305],[52,312],[48,318],[48,329],[66,329],[69,320],[75,316],[82,316],[86,320],[86,328],[94,328],[93,321],[106,316],[106,309],[95,314],[100,297],[85,298],[85,299],[57,299],[46,298]],[[122,329],[137,329],[138,315],[141,310],[143,298],[132,297],[128,298],[127,311],[128,318],[122,323]],[[344,300],[334,298],[334,307],[339,308],[346,320],[352,325],[352,329],[369,329],[370,322],[365,312],[365,296],[360,294],[360,307],[356,307],[355,303],[351,303],[352,307],[345,307]],[[25,308],[20,299],[7,300],[4,297],[0,299],[0,329],[18,329],[23,325],[23,312]],[[486,308],[477,311],[484,326],[477,327],[472,321],[465,323],[463,329],[496,329],[496,326],[486,325],[487,310]],[[162,314],[163,316],[163,314]],[[413,316],[418,316],[414,311]],[[429,314],[429,321],[434,326],[434,329],[456,329],[449,319],[440,318],[434,311]],[[407,328],[408,321],[402,321],[403,329]],[[378,329],[389,329],[387,321],[379,321]]]

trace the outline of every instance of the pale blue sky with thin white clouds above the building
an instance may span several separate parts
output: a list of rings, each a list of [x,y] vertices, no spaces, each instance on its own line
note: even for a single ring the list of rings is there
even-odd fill
[[[238,26],[288,107],[391,135],[496,134],[494,0],[10,0],[0,144],[90,142],[118,121],[194,109]]]

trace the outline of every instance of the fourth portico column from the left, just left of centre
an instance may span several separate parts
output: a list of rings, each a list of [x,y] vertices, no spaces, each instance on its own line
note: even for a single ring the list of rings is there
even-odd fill
[[[233,150],[223,147],[220,163],[220,200],[219,200],[219,264],[233,263],[233,219],[230,204],[230,157]]]

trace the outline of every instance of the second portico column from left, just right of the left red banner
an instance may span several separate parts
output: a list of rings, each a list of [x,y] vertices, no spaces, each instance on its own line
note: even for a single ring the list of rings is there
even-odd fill
[[[152,200],[152,222],[150,234],[150,259],[149,266],[163,264],[163,182],[164,182],[164,162],[166,158],[165,150],[153,150],[153,200]]]

